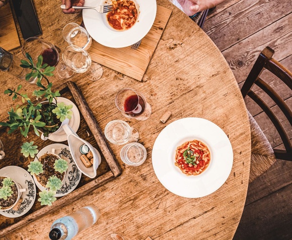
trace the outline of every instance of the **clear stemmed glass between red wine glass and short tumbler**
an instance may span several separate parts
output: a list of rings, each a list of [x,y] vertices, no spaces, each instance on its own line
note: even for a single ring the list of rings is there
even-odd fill
[[[122,120],[109,122],[104,129],[105,137],[113,144],[122,145],[127,142],[137,142],[139,133]]]

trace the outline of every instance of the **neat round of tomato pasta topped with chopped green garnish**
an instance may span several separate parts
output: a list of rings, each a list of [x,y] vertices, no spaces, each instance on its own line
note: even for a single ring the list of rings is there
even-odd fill
[[[188,176],[198,175],[210,164],[210,151],[201,141],[185,142],[177,147],[174,164]]]

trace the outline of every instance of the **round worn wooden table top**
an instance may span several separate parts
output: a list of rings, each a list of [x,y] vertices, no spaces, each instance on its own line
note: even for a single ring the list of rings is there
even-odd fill
[[[80,87],[102,129],[109,121],[122,119],[139,131],[139,142],[147,148],[147,160],[138,167],[127,166],[119,157],[122,146],[110,144],[122,167],[119,177],[74,204],[16,229],[5,239],[47,239],[55,219],[91,204],[100,209],[100,219],[74,239],[105,239],[112,232],[120,233],[125,240],[148,236],[155,240],[232,239],[244,208],[250,169],[251,140],[245,103],[231,69],[209,37],[167,0],[157,3],[173,13],[142,82],[105,67],[96,82],[89,81],[85,74],[75,74],[70,79]],[[62,27],[77,21],[78,15],[62,14],[59,5],[58,1],[35,1],[41,37],[64,49]],[[16,49],[14,53],[21,57],[20,51]],[[0,79],[3,90],[20,83],[29,92],[34,87],[3,72]],[[54,76],[51,81],[57,86],[66,80]],[[115,95],[125,87],[142,92],[152,105],[147,121],[126,119],[115,107]],[[0,96],[3,119],[12,102],[9,96]],[[172,115],[163,124],[160,117],[167,110]],[[177,119],[190,116],[208,119],[222,128],[234,154],[226,183],[214,193],[195,199],[166,190],[154,172],[151,158],[159,133]]]

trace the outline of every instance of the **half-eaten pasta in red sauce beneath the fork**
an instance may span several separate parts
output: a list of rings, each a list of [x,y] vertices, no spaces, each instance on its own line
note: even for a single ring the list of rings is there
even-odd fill
[[[112,1],[113,11],[107,14],[109,25],[115,30],[127,30],[131,28],[138,17],[135,3],[130,0]]]

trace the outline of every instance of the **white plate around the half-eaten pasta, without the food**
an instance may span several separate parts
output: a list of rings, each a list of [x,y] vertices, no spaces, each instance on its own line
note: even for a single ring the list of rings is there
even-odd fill
[[[105,5],[105,0],[85,0],[84,6]],[[109,4],[111,3],[108,1]],[[83,10],[83,21],[90,36],[98,43],[107,47],[126,47],[141,40],[151,29],[155,17],[156,0],[134,0],[139,6],[138,19],[128,30],[116,31],[107,22],[106,14],[95,10]]]

